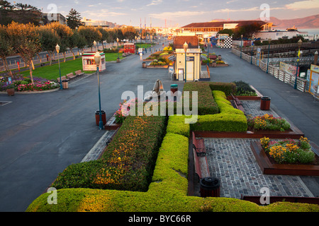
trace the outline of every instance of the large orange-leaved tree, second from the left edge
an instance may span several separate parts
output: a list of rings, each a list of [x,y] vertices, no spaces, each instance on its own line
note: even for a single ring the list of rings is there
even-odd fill
[[[15,50],[28,64],[30,70],[31,82],[33,82],[32,69],[33,69],[33,57],[40,52],[41,43],[40,35],[36,32],[35,25],[28,23],[16,23],[12,22],[8,25],[8,34],[12,40],[13,50]]]

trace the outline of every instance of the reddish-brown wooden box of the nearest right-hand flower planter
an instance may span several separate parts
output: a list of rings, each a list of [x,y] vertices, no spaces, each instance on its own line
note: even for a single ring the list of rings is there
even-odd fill
[[[252,148],[252,153],[254,154],[260,169],[262,169],[263,174],[319,176],[318,165],[273,164],[270,162],[266,153],[264,153],[262,145],[259,142],[252,142],[250,148]]]

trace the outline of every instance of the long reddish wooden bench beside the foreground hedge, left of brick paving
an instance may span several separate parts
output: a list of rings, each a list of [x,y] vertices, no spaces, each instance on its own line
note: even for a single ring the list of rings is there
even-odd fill
[[[196,145],[203,145],[203,148],[197,148]],[[208,169],[208,162],[206,157],[206,149],[203,143],[203,138],[196,139],[193,132],[193,155],[195,172],[198,176],[198,181],[204,177],[211,177]]]

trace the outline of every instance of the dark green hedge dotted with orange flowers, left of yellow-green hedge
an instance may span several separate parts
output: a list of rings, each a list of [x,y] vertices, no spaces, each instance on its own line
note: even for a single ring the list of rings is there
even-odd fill
[[[147,191],[166,117],[127,117],[101,159],[69,165],[52,186]]]

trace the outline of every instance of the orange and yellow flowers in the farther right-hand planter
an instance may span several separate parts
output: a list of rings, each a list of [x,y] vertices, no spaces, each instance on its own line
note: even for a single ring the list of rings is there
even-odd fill
[[[264,114],[257,117],[248,117],[248,130],[289,131],[290,124],[286,119],[274,117],[272,114]]]

